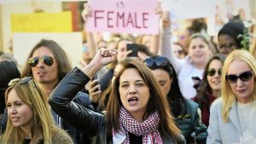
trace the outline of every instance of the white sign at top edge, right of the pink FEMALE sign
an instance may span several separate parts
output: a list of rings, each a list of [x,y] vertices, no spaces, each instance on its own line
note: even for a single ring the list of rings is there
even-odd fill
[[[161,0],[172,20],[212,17],[217,13],[215,0]]]

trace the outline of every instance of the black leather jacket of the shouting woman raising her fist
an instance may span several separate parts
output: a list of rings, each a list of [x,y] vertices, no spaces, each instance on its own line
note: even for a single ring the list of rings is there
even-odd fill
[[[99,143],[113,143],[112,136],[106,132],[106,119],[102,113],[93,112],[79,104],[71,101],[86,83],[90,81],[83,72],[74,68],[61,80],[49,98],[49,105],[61,118],[65,118],[74,127],[83,131],[86,135],[98,136]],[[160,132],[163,142],[166,144],[183,143],[185,140],[181,135],[180,141],[176,141],[171,134]]]

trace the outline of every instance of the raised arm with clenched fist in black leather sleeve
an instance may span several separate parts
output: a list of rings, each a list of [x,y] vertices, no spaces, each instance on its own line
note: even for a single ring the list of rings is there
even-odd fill
[[[116,58],[117,50],[99,49],[93,60],[82,70],[74,68],[68,72],[67,76],[56,86],[49,98],[49,105],[61,118],[67,120],[77,129],[87,135],[94,136],[104,127],[104,116],[79,106],[73,102],[73,97],[79,90],[90,81],[90,78],[102,68]]]

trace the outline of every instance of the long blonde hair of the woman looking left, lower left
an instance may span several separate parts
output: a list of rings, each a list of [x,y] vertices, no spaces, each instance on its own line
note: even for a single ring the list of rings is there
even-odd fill
[[[52,136],[55,133],[67,135],[64,130],[55,126],[55,121],[51,116],[49,104],[47,102],[47,96],[44,95],[43,90],[39,88],[38,84],[36,84],[33,79],[30,79],[25,84],[20,83],[22,80],[24,80],[24,78],[16,80],[16,82],[11,84],[6,90],[5,103],[8,100],[9,92],[12,89],[15,89],[20,100],[32,108],[34,123],[32,127],[42,133],[44,144],[51,144]],[[24,141],[25,137],[20,130],[20,127],[14,127],[11,120],[8,118],[6,130],[0,140],[4,144],[20,144],[20,141]]]

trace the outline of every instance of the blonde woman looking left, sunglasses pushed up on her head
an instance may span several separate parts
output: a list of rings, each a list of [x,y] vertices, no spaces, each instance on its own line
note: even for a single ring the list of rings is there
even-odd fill
[[[16,78],[5,93],[7,128],[2,144],[73,144],[59,129],[49,111],[47,97],[32,78]]]

